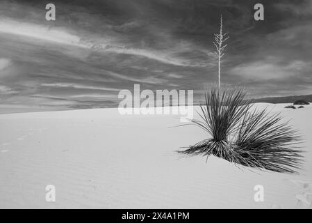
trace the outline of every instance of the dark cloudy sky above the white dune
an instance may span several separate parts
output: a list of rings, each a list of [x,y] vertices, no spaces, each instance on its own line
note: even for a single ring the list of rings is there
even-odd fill
[[[47,21],[47,3],[56,21]],[[0,2],[0,113],[117,107],[118,93],[217,82],[213,33],[229,33],[221,82],[250,97],[312,94],[312,1]]]

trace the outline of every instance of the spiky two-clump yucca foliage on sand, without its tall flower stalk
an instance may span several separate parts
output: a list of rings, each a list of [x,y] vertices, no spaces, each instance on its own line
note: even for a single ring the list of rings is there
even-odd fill
[[[302,161],[297,132],[281,120],[280,114],[254,109],[245,96],[243,89],[208,91],[198,113],[202,120],[192,123],[205,130],[209,138],[179,153],[207,158],[215,155],[245,167],[295,173]]]

